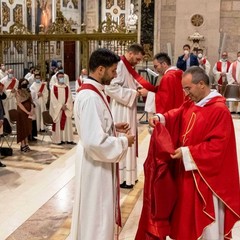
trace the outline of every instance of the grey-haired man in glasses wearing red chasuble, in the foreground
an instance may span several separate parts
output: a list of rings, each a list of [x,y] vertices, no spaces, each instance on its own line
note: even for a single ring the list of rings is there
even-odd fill
[[[201,68],[189,68],[183,74],[182,85],[189,99],[180,108],[149,120],[152,127],[157,127],[159,121],[165,125],[175,149],[170,156],[175,164],[177,198],[171,214],[165,216],[168,219],[159,221],[168,220],[168,235],[173,239],[231,239],[232,228],[240,220],[239,172],[231,114],[225,98],[210,89],[209,78]],[[159,138],[156,134],[152,137]],[[159,155],[157,160],[161,158]],[[155,208],[161,209],[161,202],[155,200]],[[145,203],[144,198],[143,209]],[[145,224],[139,224],[138,231],[145,231],[148,236],[145,239],[158,239],[154,235],[156,229],[145,228],[153,217],[149,214]]]

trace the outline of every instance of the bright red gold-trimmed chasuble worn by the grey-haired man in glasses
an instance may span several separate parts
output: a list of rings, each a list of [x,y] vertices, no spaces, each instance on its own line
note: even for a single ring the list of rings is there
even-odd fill
[[[240,220],[240,187],[234,127],[223,97],[204,107],[191,100],[164,114],[175,148],[188,146],[197,170],[179,161],[178,199],[171,237],[195,240],[215,219],[213,194],[224,204],[225,240]]]

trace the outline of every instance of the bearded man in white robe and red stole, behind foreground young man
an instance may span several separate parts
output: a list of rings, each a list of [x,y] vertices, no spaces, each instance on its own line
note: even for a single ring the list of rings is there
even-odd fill
[[[117,77],[105,86],[106,94],[111,98],[111,110],[114,121],[129,122],[130,133],[137,136],[137,99],[146,96],[146,89],[155,91],[155,87],[142,79],[134,67],[143,60],[144,49],[134,43],[128,47],[117,66]],[[121,161],[120,187],[133,188],[137,182],[137,144],[128,149],[126,159]]]

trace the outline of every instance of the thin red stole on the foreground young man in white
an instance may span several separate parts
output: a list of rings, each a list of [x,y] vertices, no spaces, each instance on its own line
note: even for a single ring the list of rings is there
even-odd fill
[[[105,105],[106,105],[106,107],[107,107],[107,109],[108,109],[108,111],[109,111],[109,113],[111,115],[111,118],[113,119],[112,113],[111,113],[110,108],[109,108],[109,104],[106,102],[106,100],[104,99],[102,94],[99,92],[99,90],[92,84],[83,83],[82,86],[78,89],[78,92],[82,91],[84,89],[92,90],[92,91],[97,93],[102,98],[103,102],[105,103]],[[112,128],[113,128],[114,136],[116,136],[116,132],[115,132],[114,126]],[[119,164],[116,163],[116,188],[117,188],[117,194],[116,194],[115,220],[116,220],[116,224],[118,226],[122,227],[121,211],[120,211],[120,186],[119,186],[119,184],[120,184],[120,182],[119,182]]]

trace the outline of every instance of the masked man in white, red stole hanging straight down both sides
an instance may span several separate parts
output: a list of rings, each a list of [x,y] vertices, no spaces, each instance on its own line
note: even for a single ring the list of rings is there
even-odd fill
[[[53,119],[52,140],[54,144],[72,144],[73,142],[73,99],[70,87],[66,85],[64,73],[58,72],[57,83],[50,89],[49,113]]]

